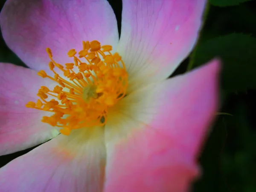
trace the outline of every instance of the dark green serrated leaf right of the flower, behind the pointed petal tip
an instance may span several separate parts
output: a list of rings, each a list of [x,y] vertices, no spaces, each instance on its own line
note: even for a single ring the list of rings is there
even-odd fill
[[[222,88],[227,91],[256,89],[256,38],[230,34],[201,42],[191,55],[188,69],[218,57],[222,61]]]

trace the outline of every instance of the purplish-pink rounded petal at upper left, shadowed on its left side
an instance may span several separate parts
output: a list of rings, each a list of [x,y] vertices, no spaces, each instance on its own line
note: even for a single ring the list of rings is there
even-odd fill
[[[116,17],[107,0],[7,0],[0,14],[6,44],[32,69],[49,70],[46,48],[57,63],[82,41],[118,42]]]

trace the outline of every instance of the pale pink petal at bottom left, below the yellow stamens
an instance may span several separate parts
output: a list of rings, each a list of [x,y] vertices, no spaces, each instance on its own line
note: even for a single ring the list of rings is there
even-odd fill
[[[105,173],[103,128],[60,134],[0,169],[0,191],[101,192]]]

